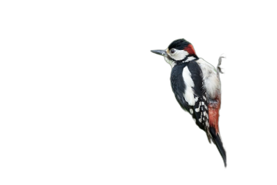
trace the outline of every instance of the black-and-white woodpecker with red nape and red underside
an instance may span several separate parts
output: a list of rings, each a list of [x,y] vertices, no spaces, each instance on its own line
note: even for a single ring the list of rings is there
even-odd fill
[[[171,66],[170,87],[175,100],[190,114],[197,127],[204,131],[208,143],[213,143],[219,152],[224,168],[227,167],[227,155],[220,135],[219,118],[221,108],[222,58],[217,67],[199,58],[193,44],[181,38],[173,40],[165,50],[150,50],[163,56]]]

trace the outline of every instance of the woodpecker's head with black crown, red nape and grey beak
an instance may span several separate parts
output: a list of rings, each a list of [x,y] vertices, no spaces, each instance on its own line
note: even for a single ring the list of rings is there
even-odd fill
[[[195,49],[193,48],[193,44],[186,39],[175,39],[168,45],[166,50],[158,49],[151,50],[150,52],[163,56],[172,68],[182,62],[190,62],[191,60],[198,58]]]

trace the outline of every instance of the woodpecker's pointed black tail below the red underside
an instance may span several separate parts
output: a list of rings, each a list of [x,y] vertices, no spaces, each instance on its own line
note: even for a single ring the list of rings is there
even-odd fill
[[[226,155],[226,150],[224,148],[220,133],[217,132],[217,134],[215,134],[215,128],[214,127],[210,127],[210,132],[211,132],[211,136],[213,137],[213,140],[215,141],[215,147],[217,148],[217,151],[220,153],[220,156],[222,158],[223,164],[224,164],[224,168],[227,167],[227,155]]]

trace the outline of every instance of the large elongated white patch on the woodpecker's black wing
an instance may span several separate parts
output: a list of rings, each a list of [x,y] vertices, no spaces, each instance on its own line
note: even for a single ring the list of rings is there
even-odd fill
[[[188,67],[185,67],[183,69],[183,78],[184,82],[186,84],[186,91],[184,93],[184,98],[188,105],[195,105],[195,97],[193,93],[193,88],[195,87],[195,83],[193,82],[193,79],[191,78],[191,73],[188,71]]]

